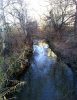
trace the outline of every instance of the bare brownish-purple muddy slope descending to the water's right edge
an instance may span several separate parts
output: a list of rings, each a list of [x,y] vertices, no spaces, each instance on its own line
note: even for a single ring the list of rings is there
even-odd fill
[[[57,55],[58,60],[62,60],[77,74],[77,46],[69,42],[52,42],[50,40],[47,40],[47,42],[50,48]]]

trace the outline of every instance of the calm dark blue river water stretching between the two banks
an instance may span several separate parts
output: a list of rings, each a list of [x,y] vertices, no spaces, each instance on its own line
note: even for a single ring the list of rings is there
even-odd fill
[[[56,61],[47,44],[39,42],[33,49],[31,66],[22,78],[27,84],[18,100],[77,100],[72,70]]]

